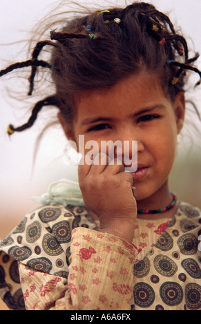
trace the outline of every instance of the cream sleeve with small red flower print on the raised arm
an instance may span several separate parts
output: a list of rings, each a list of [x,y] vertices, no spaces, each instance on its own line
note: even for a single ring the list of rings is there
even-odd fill
[[[73,230],[68,280],[19,264],[27,310],[131,310],[133,245],[84,227]]]

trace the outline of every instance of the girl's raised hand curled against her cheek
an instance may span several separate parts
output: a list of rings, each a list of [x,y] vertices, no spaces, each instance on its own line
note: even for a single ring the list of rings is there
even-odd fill
[[[100,221],[100,230],[132,243],[137,205],[132,192],[133,177],[117,159],[106,165],[97,154],[91,165],[78,168],[79,186],[86,206]]]

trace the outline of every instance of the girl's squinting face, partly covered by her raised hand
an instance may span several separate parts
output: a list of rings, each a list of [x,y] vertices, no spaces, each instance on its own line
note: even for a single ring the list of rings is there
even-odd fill
[[[175,159],[177,135],[184,119],[184,96],[174,104],[166,97],[155,74],[132,75],[108,90],[88,90],[75,98],[73,132],[68,138],[86,141],[137,141],[137,172],[133,185],[137,200],[168,190],[168,176]],[[130,154],[123,151],[123,154]],[[124,159],[122,159],[124,161]]]

